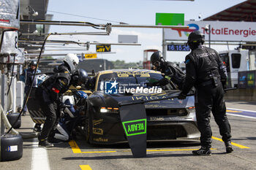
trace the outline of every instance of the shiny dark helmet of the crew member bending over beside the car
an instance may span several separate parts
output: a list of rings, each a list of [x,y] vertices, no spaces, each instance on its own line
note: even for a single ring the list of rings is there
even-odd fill
[[[88,74],[84,69],[78,69],[72,74],[72,85],[85,85],[89,80]]]

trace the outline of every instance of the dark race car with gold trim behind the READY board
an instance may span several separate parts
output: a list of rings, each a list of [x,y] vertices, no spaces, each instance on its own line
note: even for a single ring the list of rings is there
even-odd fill
[[[94,77],[94,91],[87,98],[86,119],[81,128],[86,141],[92,144],[127,142],[118,103],[177,96],[180,90],[173,83],[148,86],[150,82],[157,82],[162,78],[160,72],[146,69],[98,72]],[[194,96],[187,96],[184,100],[169,98],[145,102],[145,108],[148,142],[199,139]]]

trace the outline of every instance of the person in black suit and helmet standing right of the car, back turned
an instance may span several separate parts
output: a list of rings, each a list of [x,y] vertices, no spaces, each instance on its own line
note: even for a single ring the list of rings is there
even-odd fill
[[[179,99],[186,98],[195,85],[195,112],[200,131],[201,148],[194,155],[211,155],[211,112],[219,126],[226,152],[233,152],[231,146],[230,123],[227,120],[223,85],[227,79],[227,70],[216,50],[204,47],[205,36],[200,31],[189,34],[188,45],[192,50],[186,56],[186,79]]]

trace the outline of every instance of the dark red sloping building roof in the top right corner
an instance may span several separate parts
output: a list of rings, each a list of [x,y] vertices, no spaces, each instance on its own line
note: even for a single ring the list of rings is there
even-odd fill
[[[247,0],[203,20],[256,22],[256,0]]]

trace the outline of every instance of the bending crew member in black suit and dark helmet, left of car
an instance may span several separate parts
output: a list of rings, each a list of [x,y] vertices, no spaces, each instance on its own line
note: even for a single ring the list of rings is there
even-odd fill
[[[71,75],[69,73],[53,74],[53,76],[39,85],[37,96],[39,96],[42,111],[46,116],[45,124],[38,136],[39,147],[53,147],[53,144],[49,141],[54,135],[60,113],[64,109],[64,104],[61,100],[63,93],[69,89],[70,85],[76,87],[86,84],[87,80],[87,72],[83,69],[78,69]]]

